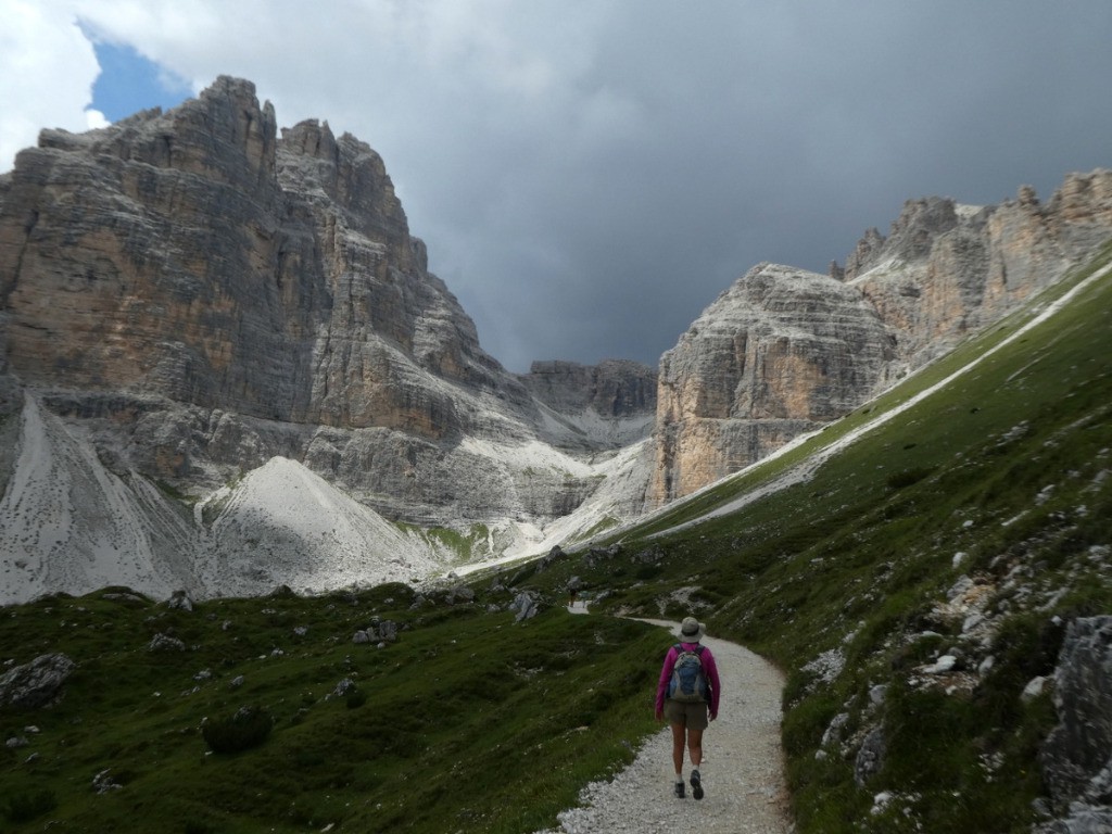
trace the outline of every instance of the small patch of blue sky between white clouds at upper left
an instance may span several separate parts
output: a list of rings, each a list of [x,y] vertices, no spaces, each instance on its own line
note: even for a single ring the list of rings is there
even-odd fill
[[[109,121],[152,107],[168,110],[192,96],[185,79],[147,60],[132,47],[93,43],[93,49],[100,75],[92,85],[91,109],[99,110]]]

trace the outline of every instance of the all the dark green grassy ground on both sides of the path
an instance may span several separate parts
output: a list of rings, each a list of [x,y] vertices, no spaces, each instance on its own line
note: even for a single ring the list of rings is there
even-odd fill
[[[1041,791],[1034,753],[1053,716],[1045,697],[1024,705],[1019,693],[1053,665],[1060,636],[1048,628],[1051,616],[1112,612],[1106,565],[1089,550],[1112,544],[1112,486],[1101,475],[1112,468],[1110,310],[1105,279],[804,484],[672,535],[626,533],[614,557],[574,555],[502,578],[559,603],[579,575],[607,593],[602,610],[678,617],[694,606],[715,634],[777,662],[790,675],[784,742],[801,832],[1025,831]],[[1002,322],[867,413],[698,504],[774,477],[1022,320]],[[677,507],[673,518],[684,513],[693,510]],[[965,555],[955,566],[957,553]],[[913,671],[962,645],[960,626],[935,614],[962,573],[993,589],[996,666],[970,692],[946,695],[914,685]],[[1009,586],[1016,575],[1023,584]],[[550,825],[579,786],[628,761],[655,726],[649,704],[667,636],[555,606],[514,624],[486,613],[488,602],[512,596],[487,590],[489,580],[475,580],[478,604],[417,609],[400,586],[212,602],[192,613],[100,594],[3,609],[0,661],[64,651],[79,667],[58,706],[0,713],[4,738],[31,742],[0,749],[0,823],[120,832]],[[689,589],[685,602],[677,588]],[[407,626],[397,644],[351,643],[373,615]],[[927,629],[941,636],[915,638]],[[149,653],[158,633],[187,651]],[[836,649],[841,675],[824,683],[804,671]],[[212,678],[196,681],[202,669]],[[238,675],[244,684],[234,687]],[[345,677],[365,699],[330,696]],[[877,684],[888,685],[880,712],[867,705]],[[274,716],[266,743],[207,755],[202,718],[247,705]],[[816,759],[841,712],[848,757]],[[877,722],[890,752],[858,787],[853,739]],[[28,724],[40,732],[27,733]],[[97,795],[91,782],[105,768],[122,787]],[[901,802],[870,814],[882,790]]]

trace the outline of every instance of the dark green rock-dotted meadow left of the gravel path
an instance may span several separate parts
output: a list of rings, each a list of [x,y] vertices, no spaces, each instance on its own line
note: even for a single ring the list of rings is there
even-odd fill
[[[0,713],[4,739],[30,742],[0,748],[0,830],[535,831],[655,726],[658,629],[413,599],[3,609],[4,661],[60,649],[78,667],[58,705]],[[374,616],[401,626],[396,643],[353,643]],[[149,651],[158,634],[185,651]],[[120,787],[98,794],[106,770]]]

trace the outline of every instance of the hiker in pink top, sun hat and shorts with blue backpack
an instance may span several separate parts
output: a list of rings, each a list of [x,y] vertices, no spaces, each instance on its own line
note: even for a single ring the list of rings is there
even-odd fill
[[[703,731],[718,717],[722,686],[711,649],[699,641],[706,626],[695,617],[679,625],[679,643],[668,648],[656,686],[656,718],[672,725],[672,762],[676,767],[675,793],[684,797],[684,747],[691,754],[692,796],[703,798]]]

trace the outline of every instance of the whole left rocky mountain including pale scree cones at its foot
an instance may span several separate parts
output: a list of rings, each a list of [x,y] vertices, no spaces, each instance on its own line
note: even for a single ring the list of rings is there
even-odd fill
[[[386,535],[398,522],[483,525],[498,535],[476,553],[500,552],[593,494],[592,458],[647,435],[655,387],[614,363],[542,401],[428,270],[379,156],[327,122],[279,131],[231,78],[169,112],[43,131],[0,177],[0,357],[9,600],[319,587],[443,558]],[[361,530],[307,473],[290,481],[306,506],[341,524],[308,540],[245,520],[249,474],[276,459],[358,502]]]

